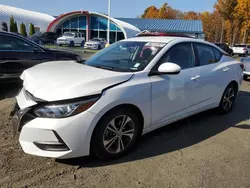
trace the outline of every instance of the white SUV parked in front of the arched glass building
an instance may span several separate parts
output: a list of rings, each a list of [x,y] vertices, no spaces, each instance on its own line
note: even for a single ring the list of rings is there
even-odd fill
[[[65,32],[62,37],[57,39],[57,44],[59,46],[68,45],[70,47],[76,44],[84,46],[85,37],[83,33],[80,32]]]

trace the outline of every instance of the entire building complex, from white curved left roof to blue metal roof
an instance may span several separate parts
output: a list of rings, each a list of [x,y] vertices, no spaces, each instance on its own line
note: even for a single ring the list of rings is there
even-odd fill
[[[14,16],[18,25],[22,22],[26,25],[27,32],[29,32],[29,24],[33,23],[37,31],[56,32],[59,36],[67,31],[77,31],[84,33],[87,41],[95,37],[107,37],[108,16],[105,14],[79,10],[52,17],[43,13],[0,5],[0,21],[6,22],[9,26],[11,15]],[[110,18],[111,42],[134,37],[144,30],[187,34],[204,39],[200,20]]]

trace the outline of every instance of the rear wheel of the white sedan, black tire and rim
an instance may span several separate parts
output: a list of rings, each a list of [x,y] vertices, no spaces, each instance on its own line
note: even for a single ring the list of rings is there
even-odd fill
[[[236,96],[237,96],[237,88],[233,83],[231,83],[227,86],[221,97],[220,105],[218,107],[219,113],[221,114],[229,113],[233,108]],[[230,100],[230,102],[228,100]]]

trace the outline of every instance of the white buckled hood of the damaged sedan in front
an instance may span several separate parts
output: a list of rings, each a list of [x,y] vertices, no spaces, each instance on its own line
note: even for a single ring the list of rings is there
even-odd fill
[[[74,61],[48,62],[21,75],[24,88],[36,98],[60,101],[100,94],[103,89],[125,82],[133,73],[99,69]]]

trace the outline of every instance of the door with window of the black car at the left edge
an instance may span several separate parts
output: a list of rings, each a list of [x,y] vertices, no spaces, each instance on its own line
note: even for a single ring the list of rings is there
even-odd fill
[[[39,46],[11,35],[0,35],[1,74],[18,76],[27,68],[44,62],[48,55]]]

